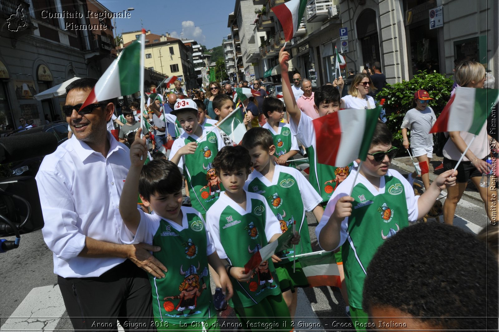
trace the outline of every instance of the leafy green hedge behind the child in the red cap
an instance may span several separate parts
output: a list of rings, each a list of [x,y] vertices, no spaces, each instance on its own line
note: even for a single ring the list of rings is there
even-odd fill
[[[428,91],[430,97],[435,99],[430,100],[429,105],[438,116],[449,101],[453,84],[451,78],[446,78],[435,70],[432,73],[425,70],[414,75],[411,80],[388,84],[376,94],[376,100],[385,99],[383,107],[387,114],[386,124],[393,133],[393,145],[401,148],[400,154],[405,153],[400,126],[405,113],[413,108],[414,93],[419,89]]]

